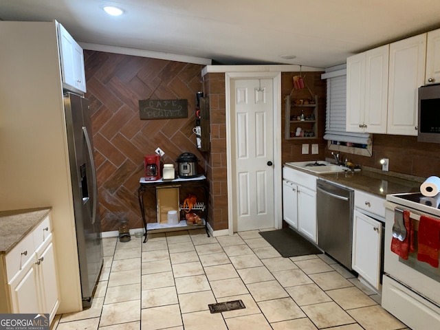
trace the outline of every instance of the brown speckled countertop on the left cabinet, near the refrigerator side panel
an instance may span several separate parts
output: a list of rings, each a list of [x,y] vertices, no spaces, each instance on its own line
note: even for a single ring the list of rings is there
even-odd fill
[[[0,254],[6,254],[29,234],[52,208],[0,211]]]

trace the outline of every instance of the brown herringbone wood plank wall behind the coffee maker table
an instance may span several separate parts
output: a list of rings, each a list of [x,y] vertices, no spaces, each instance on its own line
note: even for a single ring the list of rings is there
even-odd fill
[[[196,146],[195,102],[200,91],[201,65],[154,58],[85,51],[86,97],[90,101],[98,199],[102,231],[118,230],[123,217],[130,228],[142,228],[137,188],[144,176],[144,155],[157,147],[162,161],[175,164],[181,153]],[[187,99],[188,118],[140,120],[139,100]],[[177,169],[177,166],[175,166]],[[145,195],[153,199],[153,195]],[[156,222],[155,203],[148,205],[148,222]]]

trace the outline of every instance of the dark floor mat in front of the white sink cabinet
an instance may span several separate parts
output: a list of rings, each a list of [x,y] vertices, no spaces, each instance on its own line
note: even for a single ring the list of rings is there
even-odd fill
[[[290,228],[260,232],[260,234],[285,258],[322,253],[316,245]]]

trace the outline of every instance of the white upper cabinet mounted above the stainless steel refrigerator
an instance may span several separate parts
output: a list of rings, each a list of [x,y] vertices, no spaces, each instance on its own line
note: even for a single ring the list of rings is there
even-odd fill
[[[83,48],[72,38],[63,25],[58,24],[63,87],[86,92]]]

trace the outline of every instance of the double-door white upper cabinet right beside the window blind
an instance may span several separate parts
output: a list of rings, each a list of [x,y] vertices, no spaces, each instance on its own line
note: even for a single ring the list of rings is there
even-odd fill
[[[347,58],[347,131],[386,133],[388,50],[384,45]]]

